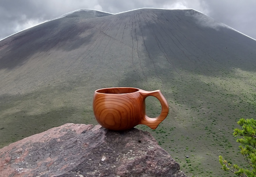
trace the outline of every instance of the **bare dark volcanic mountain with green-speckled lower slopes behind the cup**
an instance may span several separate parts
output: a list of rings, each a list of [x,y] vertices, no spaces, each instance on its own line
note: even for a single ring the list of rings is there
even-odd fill
[[[255,117],[255,56],[255,40],[192,9],[66,14],[0,41],[0,145],[67,122],[97,124],[96,89],[160,89],[168,117],[155,131],[138,128],[186,174],[219,176],[219,155],[242,162],[232,133]],[[150,117],[159,114],[154,97],[146,102]]]

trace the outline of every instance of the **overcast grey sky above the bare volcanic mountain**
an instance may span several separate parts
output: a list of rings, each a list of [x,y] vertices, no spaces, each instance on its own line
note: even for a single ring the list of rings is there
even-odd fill
[[[256,0],[0,0],[0,39],[78,9],[195,9],[256,39]]]

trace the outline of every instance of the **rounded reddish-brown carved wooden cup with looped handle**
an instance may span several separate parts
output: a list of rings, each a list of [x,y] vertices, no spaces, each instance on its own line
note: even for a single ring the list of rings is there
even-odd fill
[[[156,118],[146,115],[145,99],[156,97],[162,106]],[[139,124],[152,129],[166,118],[169,106],[160,90],[145,91],[131,87],[103,88],[94,92],[94,116],[98,123],[110,130],[127,130]]]

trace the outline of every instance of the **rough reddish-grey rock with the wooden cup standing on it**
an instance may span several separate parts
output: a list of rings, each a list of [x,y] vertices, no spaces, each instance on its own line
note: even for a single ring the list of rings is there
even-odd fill
[[[186,177],[148,133],[68,123],[0,149],[1,177]]]

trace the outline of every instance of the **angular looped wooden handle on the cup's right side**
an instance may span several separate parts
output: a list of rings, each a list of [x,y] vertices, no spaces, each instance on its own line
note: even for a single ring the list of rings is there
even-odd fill
[[[169,112],[168,103],[167,103],[165,97],[162,95],[160,90],[154,90],[154,91],[140,90],[140,93],[141,93],[141,96],[143,98],[144,117],[141,119],[139,124],[147,125],[148,127],[152,128],[154,130],[167,117],[168,112]],[[146,115],[145,99],[148,96],[156,97],[161,103],[162,111],[161,111],[161,114],[156,118],[149,118]]]

